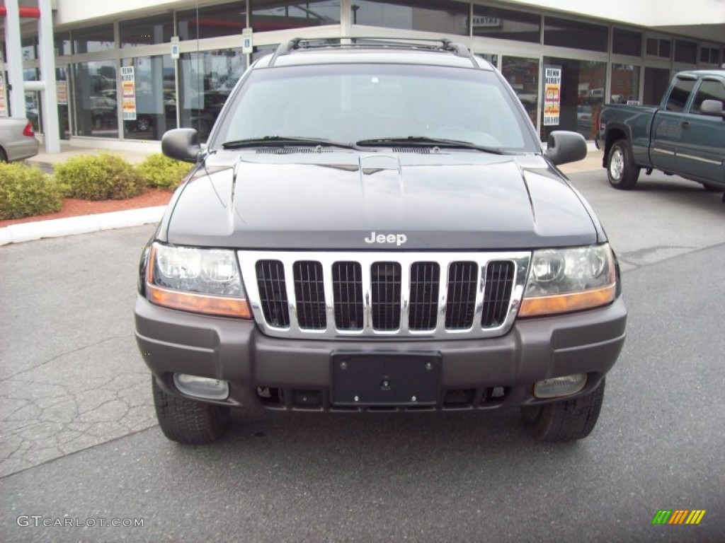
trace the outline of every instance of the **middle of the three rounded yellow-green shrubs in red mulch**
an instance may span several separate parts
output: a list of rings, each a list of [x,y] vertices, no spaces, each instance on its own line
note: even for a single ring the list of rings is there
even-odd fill
[[[131,164],[108,153],[74,156],[55,167],[54,173],[66,196],[82,200],[123,200],[146,188]]]

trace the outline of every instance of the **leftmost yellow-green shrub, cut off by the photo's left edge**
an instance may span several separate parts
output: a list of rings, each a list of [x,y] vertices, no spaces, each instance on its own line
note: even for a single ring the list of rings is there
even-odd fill
[[[23,164],[0,164],[0,219],[59,211],[63,200],[53,178]]]

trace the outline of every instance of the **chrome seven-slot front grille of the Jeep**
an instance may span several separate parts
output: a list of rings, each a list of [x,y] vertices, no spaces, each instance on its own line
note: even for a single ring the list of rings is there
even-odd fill
[[[530,253],[239,251],[254,318],[276,337],[496,337]]]

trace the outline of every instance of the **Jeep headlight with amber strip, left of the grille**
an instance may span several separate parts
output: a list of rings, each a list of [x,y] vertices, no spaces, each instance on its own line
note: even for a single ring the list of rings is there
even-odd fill
[[[243,319],[252,316],[236,255],[225,249],[154,243],[146,295],[152,303],[182,311]]]

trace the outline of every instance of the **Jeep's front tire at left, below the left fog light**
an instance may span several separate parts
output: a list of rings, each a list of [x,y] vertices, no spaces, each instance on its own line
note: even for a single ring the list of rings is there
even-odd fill
[[[152,377],[154,407],[164,435],[189,445],[212,443],[223,436],[229,424],[229,408],[186,400],[161,390]]]

